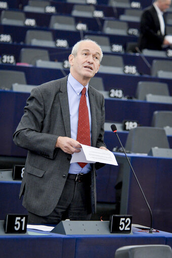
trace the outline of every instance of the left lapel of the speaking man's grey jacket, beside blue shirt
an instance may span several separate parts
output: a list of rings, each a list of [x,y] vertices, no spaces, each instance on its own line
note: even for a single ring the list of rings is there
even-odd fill
[[[67,78],[66,76],[64,80],[61,82],[61,87],[60,87],[60,104],[61,104],[61,110],[62,110],[62,117],[63,117],[63,122],[65,126],[65,132],[67,137],[71,137],[71,132],[70,132],[70,112],[69,112],[69,102],[68,102],[68,94],[67,94]]]

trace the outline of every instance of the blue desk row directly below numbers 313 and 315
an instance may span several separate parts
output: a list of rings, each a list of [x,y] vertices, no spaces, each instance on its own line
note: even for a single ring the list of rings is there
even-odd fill
[[[16,66],[16,65],[6,65],[0,64],[0,70],[9,70],[10,71],[20,71],[25,75],[25,83],[29,85],[39,85],[50,80],[56,80],[58,78],[64,77],[69,73],[69,69],[50,69],[42,67],[27,67],[27,66]],[[46,71],[46,72],[45,72]],[[140,81],[145,82],[161,82],[166,83],[168,87],[169,95],[172,95],[172,85],[171,79],[151,77],[151,76],[136,76],[131,74],[107,74],[98,72],[95,78],[102,78],[103,88],[105,91],[110,89],[122,89],[123,95],[127,98],[138,98],[137,87]],[[18,81],[13,81],[16,83]],[[18,82],[20,83],[20,82]],[[3,87],[1,87],[3,88]],[[12,88],[12,83],[9,85],[8,89]],[[101,89],[101,90],[102,90]],[[152,93],[152,92],[148,92]],[[147,93],[147,94],[148,94]],[[159,93],[156,93],[159,94]],[[160,94],[163,94],[162,92]],[[164,94],[163,94],[164,95]],[[106,97],[108,93],[106,92]],[[144,100],[145,98],[140,98]]]

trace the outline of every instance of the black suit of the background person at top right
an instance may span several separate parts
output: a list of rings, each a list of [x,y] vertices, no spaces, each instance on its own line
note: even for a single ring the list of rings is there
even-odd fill
[[[161,6],[164,5],[164,2],[167,1],[167,4],[170,5],[170,0],[158,0],[158,4]],[[155,3],[156,3],[155,2]],[[161,7],[160,6],[160,7]],[[162,12],[165,11],[162,6]],[[164,19],[165,22],[165,19]],[[164,31],[165,32],[165,31]],[[154,50],[161,50],[162,44],[168,44],[166,40],[164,40],[164,35],[161,34],[160,30],[160,23],[158,19],[157,12],[155,7],[152,5],[146,8],[141,17],[141,24],[140,24],[140,37],[138,40],[138,47],[140,50],[147,48],[147,49],[154,49]]]

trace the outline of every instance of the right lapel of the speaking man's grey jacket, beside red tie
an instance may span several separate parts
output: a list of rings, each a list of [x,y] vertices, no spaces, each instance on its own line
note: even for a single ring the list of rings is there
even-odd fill
[[[94,92],[90,87],[89,87],[88,93],[89,93],[89,102],[90,102],[90,110],[91,110],[91,117],[92,117],[92,146],[96,147],[97,124],[96,124],[95,96],[94,96]]]

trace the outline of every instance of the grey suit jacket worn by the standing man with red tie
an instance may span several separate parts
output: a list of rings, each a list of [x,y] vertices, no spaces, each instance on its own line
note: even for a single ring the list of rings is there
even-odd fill
[[[48,216],[61,196],[70,166],[71,155],[55,148],[58,136],[70,135],[67,78],[35,87],[27,99],[24,115],[13,135],[14,142],[28,149],[20,197],[31,213]],[[104,97],[89,86],[92,116],[92,146],[104,143]],[[96,203],[96,170],[94,199]]]

